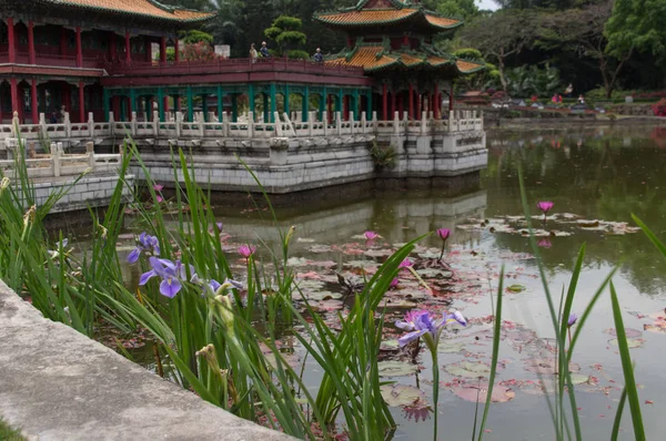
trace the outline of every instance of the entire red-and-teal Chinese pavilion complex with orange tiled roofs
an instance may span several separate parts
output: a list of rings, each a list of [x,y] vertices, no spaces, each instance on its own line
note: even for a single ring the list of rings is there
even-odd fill
[[[417,117],[440,115],[442,91],[478,63],[440,53],[433,35],[461,21],[426,11],[415,0],[361,0],[356,7],[315,18],[344,31],[347,48],[324,63],[285,59],[180,58],[176,33],[199,27],[212,13],[168,7],[157,0],[0,0],[0,123],[17,112],[22,123],[61,116],[72,122],[151,119],[165,121],[170,103],[193,121],[194,109],[218,120],[239,106],[263,120],[313,111],[320,120],[344,120],[380,111]],[[167,48],[173,47],[174,60]],[[262,100],[263,99],[263,100]],[[299,102],[300,101],[300,102]],[[181,103],[184,107],[181,107]]]

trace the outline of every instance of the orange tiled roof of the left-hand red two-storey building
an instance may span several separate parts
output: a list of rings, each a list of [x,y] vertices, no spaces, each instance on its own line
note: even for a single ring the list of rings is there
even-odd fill
[[[209,20],[215,16],[214,12],[201,12],[167,6],[155,0],[37,0],[37,2],[53,7],[125,14],[173,23],[195,23]]]

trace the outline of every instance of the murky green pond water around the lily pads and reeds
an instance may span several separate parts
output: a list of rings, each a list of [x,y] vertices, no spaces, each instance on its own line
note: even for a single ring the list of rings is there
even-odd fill
[[[503,318],[506,322],[495,392],[500,402],[491,406],[485,439],[554,439],[546,399],[535,373],[536,370],[544,373],[542,381],[552,390],[555,378],[552,322],[528,238],[521,234],[517,217],[505,223],[505,216],[523,214],[518,188],[518,164],[522,163],[533,214],[537,214],[536,202],[555,203],[552,212],[555,217],[548,218],[545,225],[535,219],[535,227],[558,232],[555,236],[537,238],[555,301],[559,301],[559,293],[567,286],[578,248],[584,243],[587,255],[573,307],[578,315],[602,280],[614,266],[620,265],[614,283],[625,325],[630,328],[632,345],[636,346],[632,356],[640,384],[647,438],[660,439],[659,433],[666,429],[663,418],[666,329],[659,332],[658,317],[659,314],[666,316],[666,259],[642,233],[630,229],[630,214],[638,215],[666,239],[666,130],[623,125],[491,131],[487,143],[488,168],[482,172],[476,187],[456,195],[436,187],[391,189],[379,185],[353,198],[326,196],[278,209],[282,227],[297,226],[291,255],[304,291],[336,291],[334,273],[352,278],[360,277],[363,269],[372,273],[397,245],[436,228],[451,228],[453,234],[445,260],[451,264],[453,278],[445,271],[424,273],[426,283],[440,295],[425,295],[410,273],[403,271],[397,289],[387,295],[386,305],[391,321],[402,318],[404,311],[415,306],[433,311],[458,309],[472,321],[465,329],[445,332],[441,347],[441,394],[436,412],[440,439],[463,440],[472,435],[476,407],[474,388],[480,384],[473,371],[483,371],[484,365],[480,363],[487,365],[491,359],[492,324],[487,317],[493,312],[502,265],[506,266],[505,285],[515,285],[519,291],[505,293]],[[258,237],[271,243],[278,237],[268,214],[253,211],[250,202],[246,208],[218,206],[215,213],[229,234],[225,243],[230,256],[235,256],[234,249],[240,243],[256,244]],[[491,221],[490,225],[482,226],[484,219]],[[128,227],[131,226],[129,221]],[[382,238],[365,243],[357,237],[367,229],[377,232]],[[437,237],[428,237],[414,256],[436,257],[440,245]],[[242,261],[235,261],[233,268],[241,274]],[[138,268],[128,267],[125,276],[128,284],[135,284]],[[334,315],[344,305],[326,301],[320,305],[322,314],[334,322]],[[610,328],[613,317],[606,293],[588,319],[573,356],[574,381],[579,382],[577,406],[586,440],[609,438],[623,384]],[[401,335],[395,329],[392,332],[387,340]],[[282,343],[284,347],[294,345],[297,356],[302,348],[293,340],[285,338]],[[299,361],[296,356],[294,362]],[[401,359],[394,350],[383,351],[382,357]],[[147,360],[150,366],[150,357]],[[417,360],[422,368],[417,375],[390,379],[418,387],[424,392],[424,402],[430,403],[430,356],[422,351]],[[317,367],[306,362],[304,379],[313,391],[320,378]],[[483,389],[483,383],[481,386]],[[413,408],[393,409],[400,424],[394,439],[432,438],[432,413]],[[630,440],[633,431],[626,409],[620,439]],[[425,416],[426,420],[416,421],[417,416]]]

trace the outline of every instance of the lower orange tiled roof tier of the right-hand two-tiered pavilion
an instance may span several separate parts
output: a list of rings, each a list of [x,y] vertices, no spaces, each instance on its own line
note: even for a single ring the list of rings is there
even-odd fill
[[[363,68],[366,73],[386,69],[440,69],[454,68],[458,74],[477,72],[483,63],[456,59],[436,52],[432,47],[423,51],[390,50],[383,44],[360,43],[350,52],[342,52],[325,61],[326,64]]]

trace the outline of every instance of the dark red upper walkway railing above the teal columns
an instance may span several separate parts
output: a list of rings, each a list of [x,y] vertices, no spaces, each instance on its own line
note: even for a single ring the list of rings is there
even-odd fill
[[[105,60],[101,64],[110,74],[130,75],[173,75],[173,74],[210,74],[234,72],[293,72],[339,74],[344,76],[363,76],[363,68],[330,65],[309,60],[289,60],[281,58],[258,59],[218,59],[211,61],[145,62],[123,60]]]

